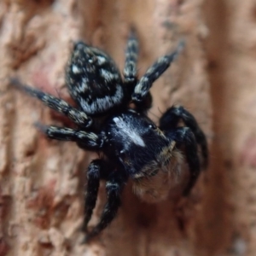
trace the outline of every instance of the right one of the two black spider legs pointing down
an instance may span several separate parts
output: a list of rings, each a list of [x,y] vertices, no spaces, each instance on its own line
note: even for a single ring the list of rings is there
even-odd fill
[[[116,216],[121,204],[120,195],[125,186],[127,176],[122,172],[113,172],[107,179],[106,191],[108,201],[103,209],[100,222],[84,237],[84,242],[89,241],[93,236],[98,235],[110,224]]]

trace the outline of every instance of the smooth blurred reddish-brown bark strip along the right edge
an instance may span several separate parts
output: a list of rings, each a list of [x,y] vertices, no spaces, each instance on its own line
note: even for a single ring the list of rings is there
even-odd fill
[[[252,0],[205,4],[215,134],[201,216],[205,255],[256,252],[255,7]]]

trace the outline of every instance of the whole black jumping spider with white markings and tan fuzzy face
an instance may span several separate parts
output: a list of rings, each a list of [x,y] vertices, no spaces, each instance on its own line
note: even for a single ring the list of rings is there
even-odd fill
[[[87,171],[84,231],[96,206],[101,179],[106,181],[108,200],[99,223],[84,241],[112,222],[129,178],[137,195],[146,201],[159,201],[167,197],[173,182],[170,174],[177,172],[183,160],[181,149],[190,173],[183,195],[189,194],[201,172],[197,144],[201,147],[202,166],[207,166],[207,140],[191,113],[183,107],[169,108],[160,118],[159,127],[146,115],[152,103],[150,87],[182,48],[183,43],[178,44],[174,52],[160,57],[137,79],[138,43],[134,32],[126,46],[123,77],[112,58],[101,49],[83,42],[74,44],[67,64],[66,83],[77,108],[18,79],[11,79],[20,90],[37,97],[77,125],[71,129],[38,124],[38,129],[47,137],[73,141],[80,148],[99,154],[99,159],[92,160]],[[180,121],[185,126],[180,126]]]

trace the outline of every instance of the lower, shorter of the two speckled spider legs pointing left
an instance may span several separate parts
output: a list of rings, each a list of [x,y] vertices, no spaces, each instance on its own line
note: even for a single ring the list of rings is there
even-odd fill
[[[76,142],[88,150],[97,150],[102,148],[102,137],[97,136],[96,133],[75,130],[67,127],[42,125],[38,123],[36,126],[38,130],[42,131],[51,139]]]

